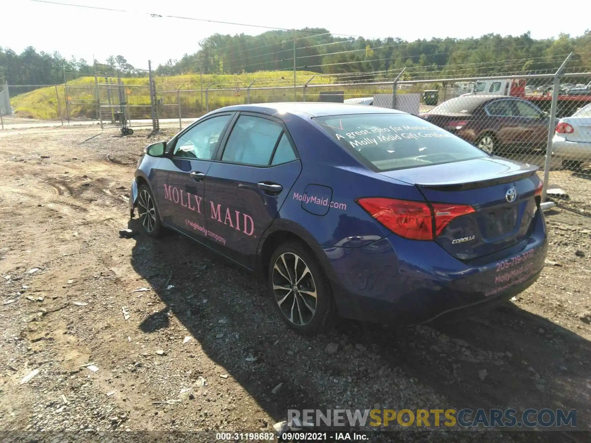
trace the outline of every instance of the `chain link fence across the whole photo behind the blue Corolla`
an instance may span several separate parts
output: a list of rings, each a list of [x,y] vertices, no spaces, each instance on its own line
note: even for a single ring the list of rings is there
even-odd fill
[[[101,128],[125,124],[155,131],[161,122],[178,123],[181,129],[212,110],[247,103],[337,102],[398,109],[490,154],[538,165],[544,171],[545,193],[551,169],[582,171],[591,161],[591,73],[582,66],[567,67],[568,60],[558,69],[537,73],[444,78],[441,72],[402,69],[387,81],[365,74],[329,79],[317,74],[300,77],[295,86],[287,77],[233,76],[230,84],[220,87],[220,81],[204,83],[203,76],[183,76],[186,81],[171,89],[178,79],[95,76],[51,85],[43,101],[35,100],[31,85],[10,90],[12,95],[22,93],[15,109],[20,116],[32,114],[34,107],[35,115],[62,125],[89,121]],[[10,103],[2,94],[8,96],[8,86],[0,92],[5,109]]]

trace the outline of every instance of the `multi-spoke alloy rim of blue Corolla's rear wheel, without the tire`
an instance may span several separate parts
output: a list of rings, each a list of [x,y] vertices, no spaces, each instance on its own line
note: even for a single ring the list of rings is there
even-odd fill
[[[293,252],[277,257],[272,275],[275,301],[285,318],[304,326],[314,318],[317,307],[316,284],[306,262]]]

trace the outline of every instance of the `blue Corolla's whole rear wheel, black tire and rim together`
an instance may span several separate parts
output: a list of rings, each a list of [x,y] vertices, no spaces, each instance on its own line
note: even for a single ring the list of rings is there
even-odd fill
[[[332,317],[332,294],[326,275],[310,249],[289,241],[269,260],[271,302],[287,325],[299,334],[315,335]]]

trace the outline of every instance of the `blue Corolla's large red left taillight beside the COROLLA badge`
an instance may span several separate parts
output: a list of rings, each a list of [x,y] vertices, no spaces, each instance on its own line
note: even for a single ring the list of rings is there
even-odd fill
[[[359,198],[357,203],[389,230],[405,239],[433,240],[456,217],[475,212],[472,206],[451,203]]]

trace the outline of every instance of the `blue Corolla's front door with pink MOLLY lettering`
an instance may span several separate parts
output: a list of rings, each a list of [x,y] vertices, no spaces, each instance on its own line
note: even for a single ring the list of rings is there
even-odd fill
[[[234,113],[199,120],[167,145],[156,172],[156,200],[164,223],[196,239],[207,237],[204,180]]]

